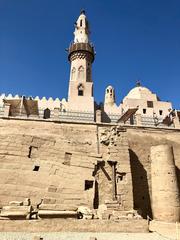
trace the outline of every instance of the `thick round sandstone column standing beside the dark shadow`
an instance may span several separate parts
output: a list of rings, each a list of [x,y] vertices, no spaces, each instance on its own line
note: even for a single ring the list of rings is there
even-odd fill
[[[151,181],[154,220],[179,222],[179,189],[171,146],[151,147]]]

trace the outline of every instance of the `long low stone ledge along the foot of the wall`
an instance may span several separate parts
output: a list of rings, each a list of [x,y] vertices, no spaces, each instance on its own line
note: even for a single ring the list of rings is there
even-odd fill
[[[75,232],[78,229],[78,236],[75,237]],[[127,233],[133,233],[130,239],[142,239],[136,236],[134,233],[148,233],[148,223],[145,220],[122,220],[122,221],[112,221],[112,220],[76,220],[76,219],[42,219],[42,220],[22,220],[22,221],[10,221],[3,220],[0,224],[0,232],[55,232],[54,237],[47,237],[47,239],[66,239],[63,236],[57,237],[57,233],[67,232],[67,239],[89,239],[88,237],[83,237],[84,234],[90,232],[91,236],[94,232],[97,236],[97,233],[103,233],[102,238],[100,239],[128,239]],[[70,232],[73,234],[70,237]],[[83,236],[80,237],[79,233],[83,232]],[[104,235],[104,232],[108,232],[108,235]],[[109,232],[116,233],[112,238],[109,235]],[[117,233],[122,232],[126,233],[124,238],[117,237]],[[149,233],[148,233],[149,234]],[[158,236],[159,237],[159,236]],[[98,237],[97,237],[98,238]],[[9,239],[9,238],[8,238]],[[16,239],[21,239],[16,237]],[[159,239],[157,237],[143,239]]]

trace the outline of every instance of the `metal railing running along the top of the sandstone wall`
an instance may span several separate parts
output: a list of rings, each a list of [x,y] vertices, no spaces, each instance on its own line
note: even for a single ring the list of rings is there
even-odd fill
[[[5,117],[5,107],[0,106],[0,118]],[[9,116],[12,118],[21,118],[21,119],[38,119],[38,120],[50,120],[50,121],[65,121],[65,122],[95,122],[94,112],[85,112],[85,111],[58,111],[49,110],[49,109],[36,109],[33,111],[31,109],[30,113],[27,113],[25,109],[14,108],[10,109]],[[102,122],[108,123],[117,123],[120,119],[120,114],[108,114],[106,117],[102,117]],[[122,122],[124,125],[137,125],[135,115],[128,119],[126,122]],[[157,127],[157,128],[174,128],[174,124],[170,126],[163,124],[162,118],[153,118],[142,116],[141,117],[141,126],[146,127]]]

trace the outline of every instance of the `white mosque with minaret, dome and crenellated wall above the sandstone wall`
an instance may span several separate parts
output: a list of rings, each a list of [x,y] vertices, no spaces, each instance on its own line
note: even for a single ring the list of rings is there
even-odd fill
[[[155,93],[148,88],[137,86],[122,99],[118,106],[115,102],[115,89],[108,86],[105,90],[104,104],[98,105],[93,96],[92,63],[95,59],[94,46],[89,40],[89,24],[82,11],[75,24],[74,41],[67,49],[70,62],[70,78],[68,99],[45,97],[28,98],[25,96],[12,96],[11,94],[0,96],[0,107],[10,104],[10,116],[27,115],[28,117],[51,118],[54,111],[59,112],[63,120],[71,116],[76,119],[82,113],[82,121],[96,121],[97,116],[102,122],[117,122],[151,125],[173,125],[172,118],[179,119],[179,111],[174,111],[171,102],[161,101]],[[22,111],[22,108],[24,109]],[[20,113],[21,112],[21,113]],[[96,114],[97,113],[97,114]],[[178,121],[176,122],[178,125]]]

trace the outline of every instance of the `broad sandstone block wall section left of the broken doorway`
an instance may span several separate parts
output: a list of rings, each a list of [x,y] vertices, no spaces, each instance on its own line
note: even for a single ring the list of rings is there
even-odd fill
[[[96,161],[94,126],[1,120],[0,129],[1,205],[25,197],[44,199],[45,209],[92,202],[84,190]]]

